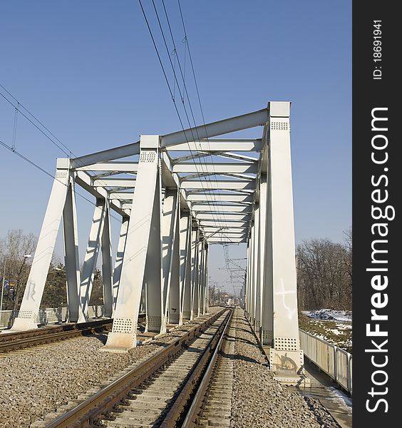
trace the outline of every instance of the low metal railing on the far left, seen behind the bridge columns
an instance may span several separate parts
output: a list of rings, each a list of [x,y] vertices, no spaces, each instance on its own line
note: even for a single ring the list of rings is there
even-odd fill
[[[19,310],[2,310],[0,312],[0,328],[9,328],[18,317]],[[103,317],[103,305],[88,306],[88,318]],[[46,307],[38,312],[38,324],[48,325],[53,322],[66,322],[66,307]]]

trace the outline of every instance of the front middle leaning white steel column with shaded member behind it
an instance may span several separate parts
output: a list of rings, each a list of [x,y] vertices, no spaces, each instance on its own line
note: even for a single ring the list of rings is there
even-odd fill
[[[136,346],[145,265],[148,267],[148,327],[160,330],[163,325],[159,141],[159,136],[140,138],[140,160],[113,328],[103,350],[125,352]],[[149,275],[151,272],[153,276]]]

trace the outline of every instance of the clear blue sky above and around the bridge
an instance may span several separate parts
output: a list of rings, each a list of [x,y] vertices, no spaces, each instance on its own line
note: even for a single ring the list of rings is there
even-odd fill
[[[163,51],[152,3],[143,4]],[[177,1],[165,4],[180,51]],[[292,101],[297,243],[342,241],[351,225],[351,1],[182,0],[182,11],[205,120]],[[0,51],[0,83],[78,156],[180,129],[138,1],[1,1]],[[9,145],[13,125],[14,109],[0,98],[0,140]],[[16,149],[52,173],[64,156],[21,116]],[[37,235],[50,178],[0,147],[0,185],[0,235]],[[93,207],[78,203],[84,250]],[[212,250],[220,261],[211,273],[222,253]]]

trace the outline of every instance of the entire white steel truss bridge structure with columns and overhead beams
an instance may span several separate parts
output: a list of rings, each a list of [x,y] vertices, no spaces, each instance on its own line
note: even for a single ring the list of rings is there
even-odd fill
[[[277,372],[299,372],[289,102],[80,158],[58,158],[53,188],[12,330],[36,328],[58,228],[63,242],[68,320],[85,322],[99,253],[104,315],[113,330],[104,350],[136,345],[145,295],[147,328],[208,311],[208,248],[247,243],[247,316]],[[223,138],[263,126],[262,138]],[[220,136],[220,138],[212,138]],[[76,185],[96,198],[82,269]],[[110,212],[121,216],[112,265]]]

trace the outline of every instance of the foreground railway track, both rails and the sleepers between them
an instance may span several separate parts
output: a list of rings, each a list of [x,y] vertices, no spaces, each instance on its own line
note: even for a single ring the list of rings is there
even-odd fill
[[[232,310],[217,312],[46,427],[180,426],[231,315]]]

